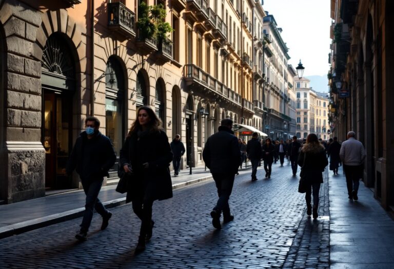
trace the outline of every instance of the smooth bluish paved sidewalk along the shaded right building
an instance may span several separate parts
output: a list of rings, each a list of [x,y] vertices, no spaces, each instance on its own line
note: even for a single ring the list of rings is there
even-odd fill
[[[394,221],[360,181],[359,200],[347,197],[342,167],[329,171],[331,268],[394,268]]]

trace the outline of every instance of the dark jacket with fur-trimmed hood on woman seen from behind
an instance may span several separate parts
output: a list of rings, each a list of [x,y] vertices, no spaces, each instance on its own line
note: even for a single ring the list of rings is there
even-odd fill
[[[323,171],[327,164],[326,152],[320,143],[304,144],[298,156],[298,165],[302,167],[302,178],[305,179],[308,184],[323,183]]]

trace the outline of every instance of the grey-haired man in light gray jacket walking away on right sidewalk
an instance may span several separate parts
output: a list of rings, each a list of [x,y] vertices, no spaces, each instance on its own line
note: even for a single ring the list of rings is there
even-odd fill
[[[353,131],[347,133],[347,140],[342,143],[339,156],[345,171],[349,199],[357,201],[359,181],[363,177],[365,150],[363,144],[355,137],[356,133]]]

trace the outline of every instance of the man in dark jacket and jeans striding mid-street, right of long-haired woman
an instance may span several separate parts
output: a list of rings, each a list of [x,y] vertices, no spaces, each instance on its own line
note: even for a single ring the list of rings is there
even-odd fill
[[[203,159],[212,173],[213,180],[218,189],[219,200],[211,211],[212,224],[221,229],[220,215],[223,212],[223,222],[234,219],[230,215],[228,200],[231,195],[235,174],[241,161],[241,152],[238,139],[234,136],[231,119],[222,119],[219,132],[211,135],[203,150]]]

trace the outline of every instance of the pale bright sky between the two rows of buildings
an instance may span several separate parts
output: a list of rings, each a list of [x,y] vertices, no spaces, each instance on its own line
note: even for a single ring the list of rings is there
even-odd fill
[[[330,39],[329,0],[264,0],[263,9],[273,15],[289,48],[289,64],[301,59],[304,76],[327,75]]]

